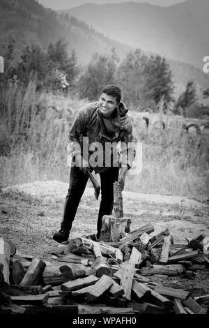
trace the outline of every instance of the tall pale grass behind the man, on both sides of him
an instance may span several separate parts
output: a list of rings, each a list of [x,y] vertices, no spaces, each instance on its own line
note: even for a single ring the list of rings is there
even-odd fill
[[[37,180],[67,182],[68,132],[84,100],[37,94],[31,82],[26,90],[1,92],[1,187]],[[182,117],[130,112],[134,134],[143,147],[143,169],[127,175],[126,191],[184,195],[205,199],[209,189],[208,129],[201,134],[182,130]],[[161,122],[166,122],[162,129]]]

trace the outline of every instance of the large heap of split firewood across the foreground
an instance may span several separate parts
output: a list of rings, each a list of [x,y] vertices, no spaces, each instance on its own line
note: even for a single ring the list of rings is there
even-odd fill
[[[15,253],[0,238],[0,313],[206,314],[209,288],[167,288],[156,274],[192,278],[209,267],[208,237],[175,244],[169,230],[147,223],[119,241],[70,239],[49,251],[51,262]]]

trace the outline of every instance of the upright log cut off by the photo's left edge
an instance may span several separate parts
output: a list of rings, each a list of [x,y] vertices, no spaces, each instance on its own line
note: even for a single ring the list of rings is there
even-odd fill
[[[3,264],[3,279],[10,283],[10,243],[0,237],[0,263]]]

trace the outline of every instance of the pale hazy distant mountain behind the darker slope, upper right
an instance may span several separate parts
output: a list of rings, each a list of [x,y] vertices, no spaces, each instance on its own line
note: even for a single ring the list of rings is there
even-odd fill
[[[88,3],[65,10],[114,40],[203,68],[209,52],[209,1],[169,7],[149,3]]]

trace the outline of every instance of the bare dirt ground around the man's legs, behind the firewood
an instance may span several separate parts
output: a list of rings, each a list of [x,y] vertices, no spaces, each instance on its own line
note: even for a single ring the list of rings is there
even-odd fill
[[[38,255],[54,262],[48,253],[57,246],[52,239],[59,230],[68,184],[60,181],[36,181],[1,189],[0,235],[15,244],[20,253]],[[87,186],[72,225],[70,238],[96,232],[99,200]],[[209,237],[209,200],[151,195],[123,191],[123,214],[131,218],[131,230],[152,223],[151,236],[169,228],[175,243],[186,244],[204,233]],[[209,269],[194,272],[193,278],[182,276],[151,277],[153,281],[173,288],[209,287]]]

